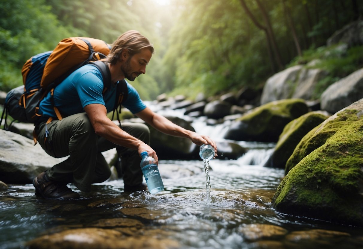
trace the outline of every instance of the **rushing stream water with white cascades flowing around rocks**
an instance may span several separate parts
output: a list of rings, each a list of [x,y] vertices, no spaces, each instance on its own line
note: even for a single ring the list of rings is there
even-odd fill
[[[216,141],[225,129],[202,118],[193,127]],[[0,191],[0,249],[77,228],[127,228],[131,236],[175,241],[170,248],[363,248],[361,228],[275,211],[271,198],[284,170],[262,166],[274,144],[238,143],[249,148],[241,158],[209,161],[210,189],[201,160],[160,160],[165,189],[156,195],[128,195],[123,181],[113,180],[79,192],[81,200],[50,201],[35,196],[31,184],[9,185]]]

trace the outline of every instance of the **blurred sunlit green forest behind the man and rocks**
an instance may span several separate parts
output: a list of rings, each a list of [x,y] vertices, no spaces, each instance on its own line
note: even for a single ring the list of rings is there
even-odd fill
[[[261,89],[274,73],[313,59],[329,72],[315,91],[318,98],[362,67],[363,46],[344,55],[326,46],[362,11],[359,0],[4,0],[0,90],[22,85],[25,61],[63,38],[112,43],[134,29],[155,47],[146,74],[132,82],[145,100],[161,93],[195,98],[244,86]]]

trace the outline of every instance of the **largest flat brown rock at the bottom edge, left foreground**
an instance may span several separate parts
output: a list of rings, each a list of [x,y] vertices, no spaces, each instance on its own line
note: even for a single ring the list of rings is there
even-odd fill
[[[146,235],[125,236],[116,229],[82,228],[41,236],[26,243],[30,249],[167,249],[178,248],[179,243],[167,238],[156,237],[159,230]],[[160,233],[162,234],[162,233]]]

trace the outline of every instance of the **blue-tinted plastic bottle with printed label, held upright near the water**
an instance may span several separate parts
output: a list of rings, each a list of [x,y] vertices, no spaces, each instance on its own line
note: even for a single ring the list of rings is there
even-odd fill
[[[155,194],[162,191],[164,189],[164,184],[155,159],[149,156],[146,151],[141,153],[141,157],[140,167],[142,174],[145,177],[149,192]]]

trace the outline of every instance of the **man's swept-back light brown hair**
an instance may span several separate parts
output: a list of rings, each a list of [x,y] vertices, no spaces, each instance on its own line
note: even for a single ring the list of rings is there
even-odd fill
[[[154,53],[154,47],[146,37],[142,36],[136,30],[126,31],[113,43],[111,51],[107,56],[107,61],[111,64],[116,64],[122,50],[127,49],[130,56],[133,56],[134,54],[140,53],[140,50],[143,48],[148,48],[151,53]]]

